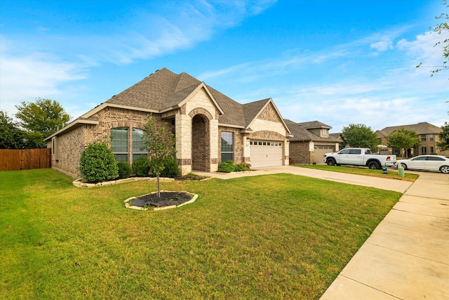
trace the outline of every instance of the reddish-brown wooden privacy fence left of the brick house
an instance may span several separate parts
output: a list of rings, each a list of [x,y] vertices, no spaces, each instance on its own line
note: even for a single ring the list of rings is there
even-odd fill
[[[0,171],[51,168],[51,148],[0,149]]]

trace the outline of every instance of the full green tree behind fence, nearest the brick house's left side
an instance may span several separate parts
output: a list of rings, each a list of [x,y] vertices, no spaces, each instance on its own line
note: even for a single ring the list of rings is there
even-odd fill
[[[25,138],[34,148],[45,148],[43,139],[69,124],[71,118],[58,102],[50,99],[36,98],[35,103],[22,102],[15,107],[15,117],[20,119]]]

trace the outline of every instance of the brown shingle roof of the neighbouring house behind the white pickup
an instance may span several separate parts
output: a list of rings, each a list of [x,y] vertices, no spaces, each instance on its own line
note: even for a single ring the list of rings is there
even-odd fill
[[[339,143],[341,141],[340,138],[335,138],[335,136],[331,135],[329,135],[328,138],[321,138],[321,136],[318,136],[315,133],[309,131],[309,129],[332,128],[321,122],[312,121],[312,122],[296,123],[289,119],[284,119],[283,121],[286,123],[288,129],[290,129],[290,132],[293,134],[293,138],[290,138],[290,141],[328,141],[332,143]]]

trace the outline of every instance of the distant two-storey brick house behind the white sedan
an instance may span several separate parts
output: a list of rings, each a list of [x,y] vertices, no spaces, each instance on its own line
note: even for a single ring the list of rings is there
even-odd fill
[[[427,122],[411,125],[390,126],[385,127],[382,130],[377,130],[375,133],[377,138],[379,138],[380,154],[401,155],[400,149],[392,149],[387,147],[387,136],[401,128],[415,131],[421,142],[419,147],[407,150],[407,157],[432,153],[445,156],[449,155],[449,151],[440,151],[438,147],[436,147],[436,142],[439,141],[437,133],[441,132],[441,128]]]

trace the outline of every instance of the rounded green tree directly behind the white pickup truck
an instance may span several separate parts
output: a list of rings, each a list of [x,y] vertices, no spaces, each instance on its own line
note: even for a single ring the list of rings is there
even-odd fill
[[[379,139],[371,127],[363,124],[349,124],[343,127],[342,139],[349,147],[370,148],[372,152],[379,151]]]

